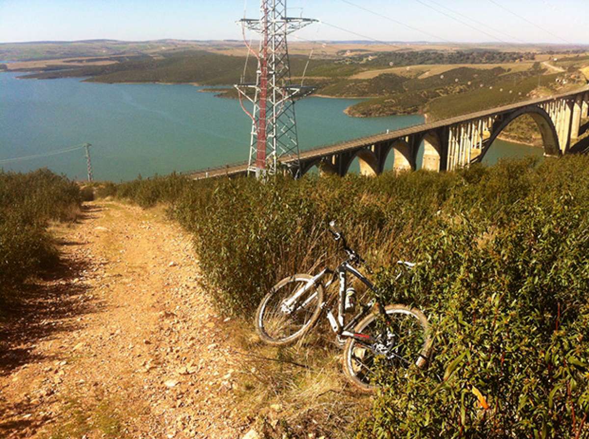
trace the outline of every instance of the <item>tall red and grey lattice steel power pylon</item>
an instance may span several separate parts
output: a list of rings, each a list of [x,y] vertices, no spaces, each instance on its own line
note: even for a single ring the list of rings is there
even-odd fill
[[[242,78],[236,85],[241,106],[252,118],[248,175],[276,174],[282,157],[289,158],[289,164],[284,166],[290,168],[293,176],[300,172],[294,100],[315,88],[291,83],[286,37],[316,21],[287,16],[286,0],[261,0],[259,19],[244,18],[238,22],[243,26],[244,39],[246,28],[261,35],[258,53],[246,40],[248,51],[258,61],[256,82],[244,83]],[[244,98],[253,103],[252,113],[243,107]]]

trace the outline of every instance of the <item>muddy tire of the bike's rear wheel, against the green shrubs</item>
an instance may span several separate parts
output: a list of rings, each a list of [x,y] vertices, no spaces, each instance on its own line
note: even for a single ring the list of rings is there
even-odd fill
[[[429,353],[431,352],[432,348],[432,339],[431,334],[429,333],[429,324],[427,317],[418,309],[411,309],[404,305],[389,305],[385,307],[386,314],[388,316],[392,316],[393,314],[404,314],[405,316],[412,316],[416,319],[419,327],[421,327],[423,331],[423,344],[421,350],[418,353],[415,353],[416,360],[411,361],[411,363],[415,363],[417,367],[423,367],[427,363],[427,359]],[[355,332],[360,334],[366,334],[366,329],[370,326],[373,321],[376,321],[378,314],[371,313],[366,316],[358,325],[356,325]],[[372,336],[373,334],[368,334]],[[353,361],[356,362],[356,366],[358,366],[358,360],[355,356],[354,350],[356,348],[356,344],[359,345],[360,348],[367,348],[361,347],[359,342],[356,339],[350,338],[346,340],[346,344],[344,346],[343,351],[343,371],[350,381],[358,390],[363,391],[365,393],[372,393],[373,391],[378,388],[372,381],[366,380],[366,376],[360,377],[358,371],[354,370]],[[363,361],[364,358],[361,358]]]

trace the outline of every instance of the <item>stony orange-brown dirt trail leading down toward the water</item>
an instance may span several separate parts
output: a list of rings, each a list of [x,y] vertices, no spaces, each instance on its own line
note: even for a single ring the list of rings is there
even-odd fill
[[[0,332],[0,437],[241,437],[239,372],[190,237],[111,202],[56,232],[61,272]]]

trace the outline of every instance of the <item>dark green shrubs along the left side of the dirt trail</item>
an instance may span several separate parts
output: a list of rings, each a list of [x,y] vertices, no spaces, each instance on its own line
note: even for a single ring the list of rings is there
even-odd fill
[[[80,188],[48,170],[0,171],[0,299],[55,261],[47,223],[75,219],[80,202]]]

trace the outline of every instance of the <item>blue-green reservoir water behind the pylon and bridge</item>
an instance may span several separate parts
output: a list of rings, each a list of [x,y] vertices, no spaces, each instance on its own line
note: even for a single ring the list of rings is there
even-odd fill
[[[119,181],[247,159],[250,119],[236,100],[192,85],[37,81],[17,79],[19,75],[0,73],[0,162],[88,142],[95,179]],[[417,115],[349,118],[343,110],[356,102],[298,102],[301,149],[423,122]],[[541,156],[542,150],[498,141],[485,162],[530,154]],[[48,167],[76,179],[86,174],[83,150],[0,167],[22,172]]]

